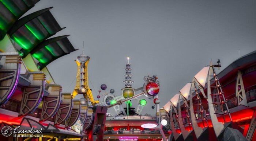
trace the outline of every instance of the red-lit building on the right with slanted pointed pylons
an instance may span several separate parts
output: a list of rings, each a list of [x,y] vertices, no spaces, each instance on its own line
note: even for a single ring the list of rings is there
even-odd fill
[[[231,135],[256,140],[256,51],[235,60],[218,75],[217,63],[199,71],[163,107],[172,125],[169,140],[215,141]]]

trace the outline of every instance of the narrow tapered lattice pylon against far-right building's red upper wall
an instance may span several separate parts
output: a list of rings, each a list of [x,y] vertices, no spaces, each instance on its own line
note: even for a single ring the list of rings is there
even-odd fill
[[[238,70],[237,79],[236,79],[236,97],[237,103],[239,105],[248,106],[245,90],[244,90],[244,82],[242,79],[242,73]]]

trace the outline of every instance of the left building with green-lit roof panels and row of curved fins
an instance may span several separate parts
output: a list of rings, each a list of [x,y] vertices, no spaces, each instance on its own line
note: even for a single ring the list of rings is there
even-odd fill
[[[92,110],[74,100],[52,78],[47,65],[76,49],[69,35],[50,38],[63,30],[50,9],[20,18],[39,0],[0,1],[0,126],[14,130],[41,129],[43,137],[1,134],[1,140],[82,140],[71,129],[80,121],[87,129]],[[4,130],[10,131],[10,130]]]

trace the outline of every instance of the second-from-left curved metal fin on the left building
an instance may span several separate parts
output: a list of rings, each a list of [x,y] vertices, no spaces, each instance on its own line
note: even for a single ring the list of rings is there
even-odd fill
[[[41,102],[45,90],[45,74],[41,71],[28,72],[25,76],[31,82],[23,90],[20,105],[20,116],[26,116],[33,112]]]

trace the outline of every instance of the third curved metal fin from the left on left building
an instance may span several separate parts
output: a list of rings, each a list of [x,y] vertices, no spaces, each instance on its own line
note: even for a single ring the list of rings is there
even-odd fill
[[[61,86],[55,84],[46,84],[46,90],[49,95],[43,98],[40,122],[46,121],[57,112],[60,106]]]

